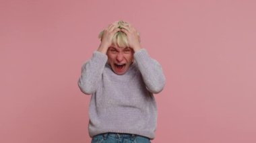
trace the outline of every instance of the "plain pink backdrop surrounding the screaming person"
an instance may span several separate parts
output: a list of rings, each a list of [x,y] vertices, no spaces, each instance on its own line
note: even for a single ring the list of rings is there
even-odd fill
[[[164,69],[152,142],[256,142],[256,2],[1,0],[0,142],[90,142],[77,87],[123,19]]]

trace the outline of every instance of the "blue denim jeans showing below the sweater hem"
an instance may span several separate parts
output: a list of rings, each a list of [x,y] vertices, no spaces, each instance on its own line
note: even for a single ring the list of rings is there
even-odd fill
[[[150,143],[150,138],[135,134],[105,133],[94,136],[91,143]]]

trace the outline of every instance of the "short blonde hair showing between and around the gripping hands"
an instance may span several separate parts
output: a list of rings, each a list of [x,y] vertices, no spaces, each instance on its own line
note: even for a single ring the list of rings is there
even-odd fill
[[[129,23],[125,22],[125,21],[118,21],[117,23],[119,25],[119,28],[125,28],[125,26],[127,26]],[[100,34],[98,35],[98,38],[100,38],[100,40],[102,40],[102,36],[104,34],[104,30],[102,32],[100,32]],[[138,33],[139,35],[139,33]],[[129,47],[129,43],[127,40],[127,35],[124,32],[117,32],[114,34],[113,39],[112,39],[112,43],[119,46],[119,47]]]

